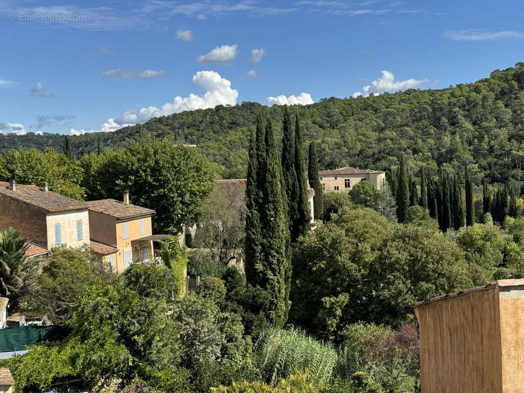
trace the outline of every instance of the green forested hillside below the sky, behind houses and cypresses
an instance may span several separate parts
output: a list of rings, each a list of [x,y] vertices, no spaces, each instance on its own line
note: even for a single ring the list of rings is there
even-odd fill
[[[244,102],[207,110],[152,118],[114,133],[71,137],[73,154],[82,147],[96,150],[127,146],[148,137],[188,141],[219,164],[224,177],[245,177],[250,132],[263,110],[281,139],[282,108]],[[520,181],[524,163],[524,63],[489,78],[440,90],[407,90],[395,94],[336,99],[294,106],[303,126],[304,141],[317,141],[322,168],[351,165],[386,169],[406,154],[410,171],[450,163],[455,169],[472,164],[478,185],[510,177]],[[52,147],[62,149],[63,136],[2,135],[0,149]],[[305,144],[307,146],[307,144]]]

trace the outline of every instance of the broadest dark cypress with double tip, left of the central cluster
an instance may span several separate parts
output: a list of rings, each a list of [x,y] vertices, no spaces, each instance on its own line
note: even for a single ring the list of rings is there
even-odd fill
[[[246,183],[246,279],[270,298],[264,310],[272,326],[288,318],[291,263],[287,198],[281,159],[271,119],[263,127],[257,117],[255,143],[250,147]],[[255,176],[253,174],[255,173]]]

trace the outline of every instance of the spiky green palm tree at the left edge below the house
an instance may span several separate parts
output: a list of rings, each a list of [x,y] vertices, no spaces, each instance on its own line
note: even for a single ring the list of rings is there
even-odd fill
[[[26,256],[29,239],[13,228],[0,233],[0,296],[9,298],[11,308],[36,285],[39,258]]]

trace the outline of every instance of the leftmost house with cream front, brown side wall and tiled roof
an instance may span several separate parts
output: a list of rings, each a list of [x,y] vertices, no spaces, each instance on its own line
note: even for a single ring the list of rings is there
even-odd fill
[[[89,213],[84,202],[42,187],[0,182],[0,231],[13,227],[31,239],[31,255],[65,244],[89,244]]]

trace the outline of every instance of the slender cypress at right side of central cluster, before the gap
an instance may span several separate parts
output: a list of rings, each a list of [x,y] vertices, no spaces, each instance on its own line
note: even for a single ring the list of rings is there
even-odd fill
[[[295,115],[295,154],[294,154],[294,167],[296,170],[296,178],[298,182],[298,198],[297,198],[297,221],[293,225],[294,236],[291,236],[291,242],[294,243],[299,236],[305,236],[308,230],[309,220],[311,220],[309,214],[308,204],[308,181],[305,179],[305,165],[304,165],[304,146],[302,140],[302,128],[300,127],[300,121],[298,113]]]

